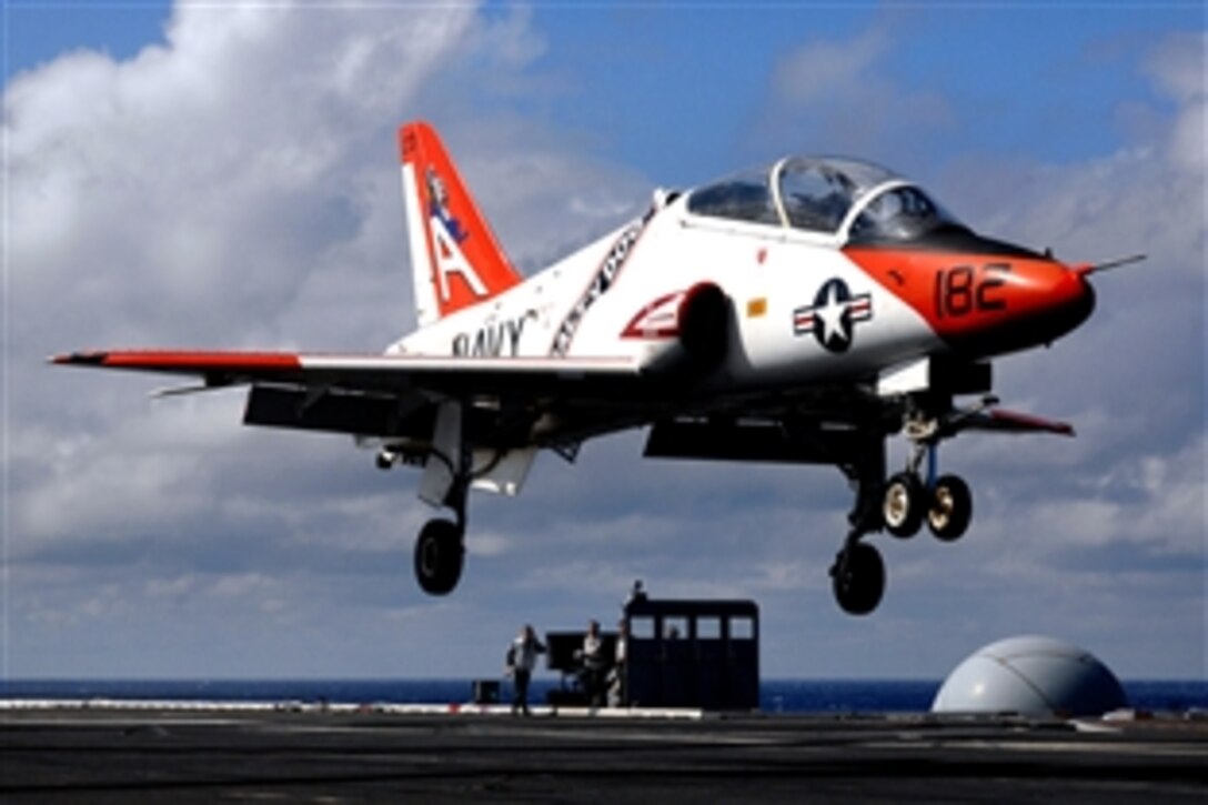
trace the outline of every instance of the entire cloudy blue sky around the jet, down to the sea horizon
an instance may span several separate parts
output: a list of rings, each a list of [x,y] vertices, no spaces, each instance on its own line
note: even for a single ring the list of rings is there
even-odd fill
[[[494,672],[516,626],[629,583],[750,596],[779,677],[940,678],[1049,633],[1206,674],[1202,4],[6,4],[5,676]],[[987,233],[1144,251],[1094,318],[1003,360],[1073,441],[957,440],[978,515],[881,539],[837,612],[837,473],[658,464],[640,435],[476,498],[425,598],[414,475],[243,429],[239,394],[51,370],[100,346],[379,349],[412,326],[394,129],[434,121],[521,266],[785,152],[898,168]],[[1177,348],[1172,348],[1172,344]],[[458,636],[449,639],[449,635]]]

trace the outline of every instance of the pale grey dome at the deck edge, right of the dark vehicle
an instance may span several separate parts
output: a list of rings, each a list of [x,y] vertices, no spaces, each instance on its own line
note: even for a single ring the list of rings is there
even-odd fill
[[[958,665],[931,712],[1065,718],[1102,716],[1127,702],[1120,681],[1093,654],[1050,637],[1010,637]]]

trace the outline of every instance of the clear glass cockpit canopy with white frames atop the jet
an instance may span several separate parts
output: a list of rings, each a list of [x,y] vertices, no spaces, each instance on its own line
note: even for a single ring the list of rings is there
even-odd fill
[[[831,236],[843,243],[904,242],[936,230],[968,231],[920,187],[869,162],[780,160],[692,192],[687,209]]]

